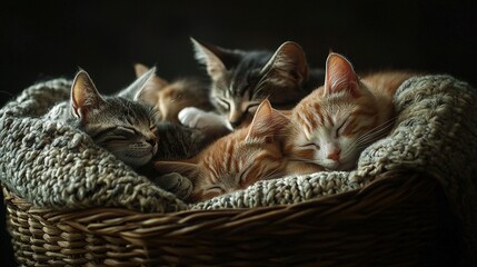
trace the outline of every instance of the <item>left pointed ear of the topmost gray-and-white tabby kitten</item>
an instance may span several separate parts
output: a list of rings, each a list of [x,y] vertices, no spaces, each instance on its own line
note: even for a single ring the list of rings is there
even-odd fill
[[[218,80],[227,71],[226,65],[219,58],[222,53],[220,48],[206,44],[190,38],[196,52],[196,59],[207,67],[207,73],[212,80]]]

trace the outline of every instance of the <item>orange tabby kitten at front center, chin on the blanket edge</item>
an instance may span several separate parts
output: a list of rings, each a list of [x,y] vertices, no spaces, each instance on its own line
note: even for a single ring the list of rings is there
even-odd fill
[[[285,175],[282,131],[288,118],[265,100],[249,127],[218,139],[187,161],[157,161],[158,172],[179,172],[195,184],[190,201],[244,189],[258,180]]]

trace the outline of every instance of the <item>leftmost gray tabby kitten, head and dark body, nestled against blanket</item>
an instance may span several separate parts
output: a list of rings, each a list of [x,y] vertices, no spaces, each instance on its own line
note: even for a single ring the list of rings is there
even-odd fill
[[[133,168],[152,158],[189,158],[206,145],[205,135],[160,121],[157,110],[145,103],[155,71],[151,68],[115,96],[101,96],[89,75],[80,70],[71,87],[71,100],[54,106],[46,116],[85,131],[98,146]]]

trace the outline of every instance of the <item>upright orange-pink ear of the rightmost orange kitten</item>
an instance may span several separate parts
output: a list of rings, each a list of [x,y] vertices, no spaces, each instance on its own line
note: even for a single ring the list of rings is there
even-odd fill
[[[352,65],[341,55],[331,52],[326,60],[325,95],[347,91],[359,96],[359,79]]]

